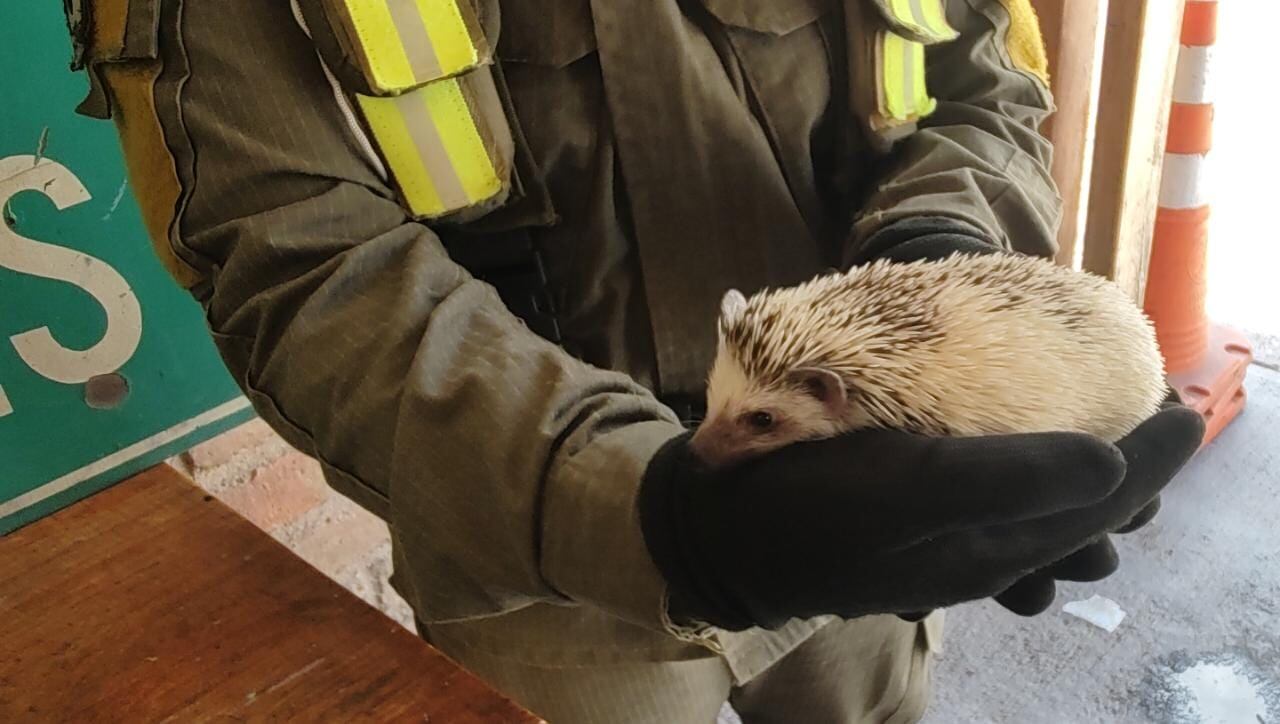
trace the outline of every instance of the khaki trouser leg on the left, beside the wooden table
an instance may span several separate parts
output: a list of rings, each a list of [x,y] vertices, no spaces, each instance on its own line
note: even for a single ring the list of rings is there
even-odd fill
[[[717,656],[686,661],[548,666],[453,645],[433,646],[550,724],[714,724],[732,684]]]

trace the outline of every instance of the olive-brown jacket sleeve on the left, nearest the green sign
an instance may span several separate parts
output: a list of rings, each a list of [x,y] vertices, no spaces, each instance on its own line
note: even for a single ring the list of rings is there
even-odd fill
[[[632,500],[671,411],[535,336],[406,217],[288,3],[133,9],[159,14],[160,52],[93,72],[140,201],[177,210],[152,228],[204,276],[259,413],[388,518],[417,613],[573,600],[662,627]]]

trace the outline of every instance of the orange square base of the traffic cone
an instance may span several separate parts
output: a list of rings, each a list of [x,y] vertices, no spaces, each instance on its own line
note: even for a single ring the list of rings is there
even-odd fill
[[[1253,348],[1239,331],[1210,325],[1208,348],[1197,367],[1169,375],[1188,407],[1204,417],[1204,439],[1210,444],[1240,414],[1248,398],[1244,377],[1253,362]]]

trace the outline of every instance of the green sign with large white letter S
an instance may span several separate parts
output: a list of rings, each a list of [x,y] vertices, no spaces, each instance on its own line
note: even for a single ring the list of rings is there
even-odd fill
[[[252,414],[69,59],[60,3],[0,3],[0,535]]]

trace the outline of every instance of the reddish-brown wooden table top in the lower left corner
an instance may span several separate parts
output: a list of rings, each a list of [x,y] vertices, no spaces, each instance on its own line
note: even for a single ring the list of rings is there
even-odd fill
[[[0,721],[535,723],[157,467],[0,539]]]

